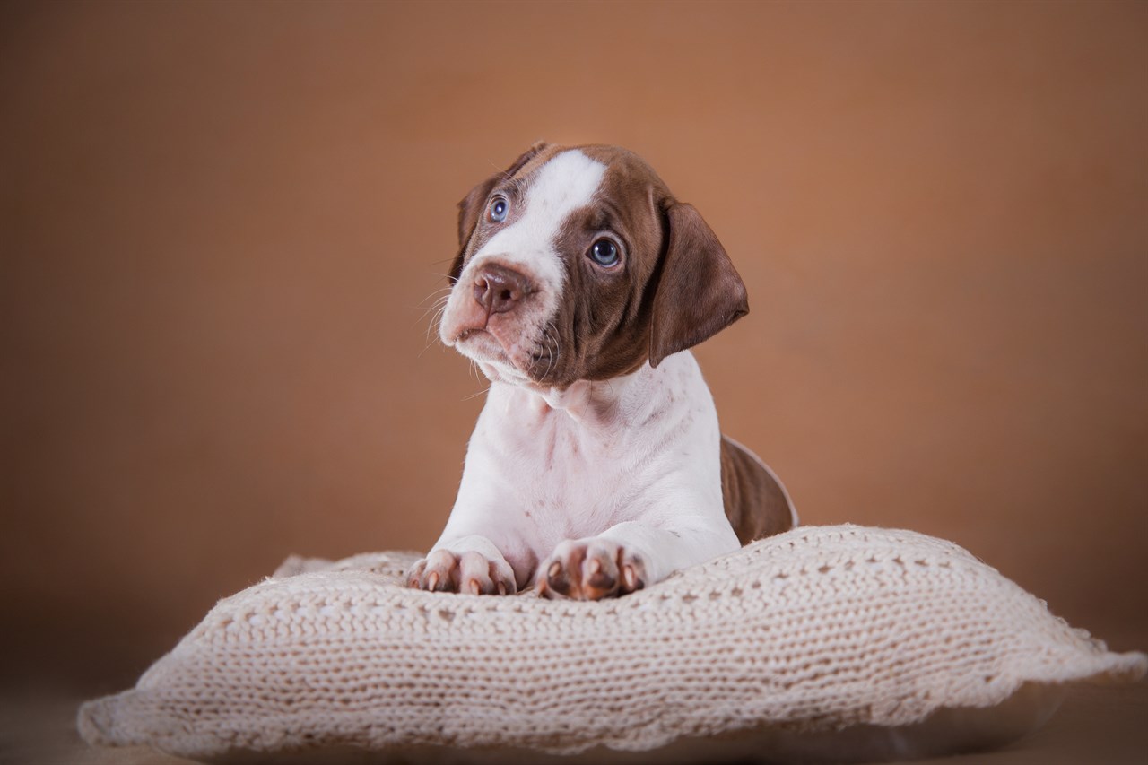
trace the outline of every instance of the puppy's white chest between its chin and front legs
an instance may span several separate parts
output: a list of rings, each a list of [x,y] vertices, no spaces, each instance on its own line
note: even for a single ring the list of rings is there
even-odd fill
[[[471,439],[455,513],[481,512],[512,549],[541,556],[563,540],[657,519],[683,487],[720,509],[719,438],[689,354],[561,394],[496,384]]]

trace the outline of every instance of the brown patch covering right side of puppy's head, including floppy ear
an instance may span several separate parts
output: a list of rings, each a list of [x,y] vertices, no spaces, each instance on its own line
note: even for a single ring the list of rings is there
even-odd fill
[[[677,202],[633,152],[576,147],[607,167],[594,202],[573,212],[557,242],[566,286],[553,322],[561,348],[538,381],[568,385],[657,366],[748,310],[745,286],[716,235]],[[595,242],[615,242],[621,262],[603,268]]]

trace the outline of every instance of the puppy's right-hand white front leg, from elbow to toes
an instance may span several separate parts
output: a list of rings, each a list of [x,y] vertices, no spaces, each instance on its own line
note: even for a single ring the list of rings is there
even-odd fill
[[[659,527],[628,520],[558,544],[538,567],[536,587],[546,597],[577,601],[621,596],[738,547],[728,524],[701,519]]]

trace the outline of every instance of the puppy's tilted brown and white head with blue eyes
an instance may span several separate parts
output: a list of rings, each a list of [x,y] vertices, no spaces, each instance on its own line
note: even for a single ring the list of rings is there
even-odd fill
[[[439,333],[492,380],[657,366],[748,311],[709,226],[626,149],[536,144],[459,202],[458,238]]]

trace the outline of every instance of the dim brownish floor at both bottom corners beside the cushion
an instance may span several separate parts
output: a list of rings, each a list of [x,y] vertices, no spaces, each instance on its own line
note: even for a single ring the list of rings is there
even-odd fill
[[[76,734],[77,698],[5,695],[0,763],[13,765],[174,765],[191,760],[146,748],[92,749]],[[916,760],[963,765],[1142,765],[1148,763],[1148,682],[1084,688],[1042,729],[994,752]]]

